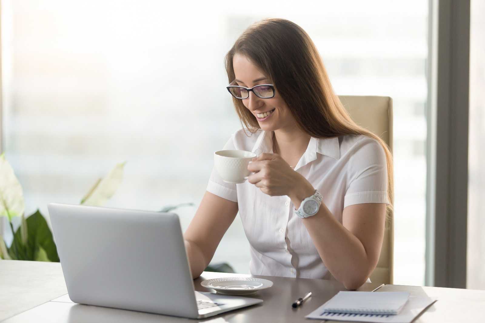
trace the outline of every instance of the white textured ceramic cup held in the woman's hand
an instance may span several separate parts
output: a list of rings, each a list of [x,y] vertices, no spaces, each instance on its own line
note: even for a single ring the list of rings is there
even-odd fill
[[[219,150],[214,153],[214,167],[226,183],[244,183],[251,174],[247,165],[255,153],[245,150]]]

